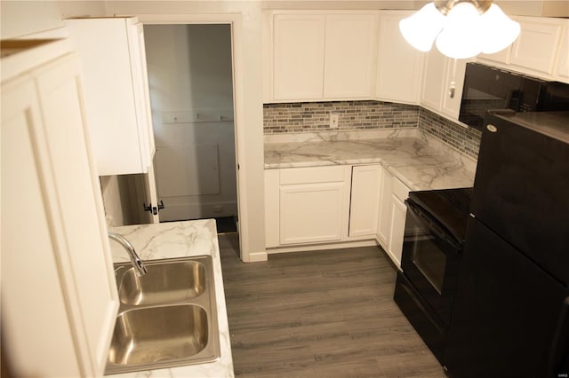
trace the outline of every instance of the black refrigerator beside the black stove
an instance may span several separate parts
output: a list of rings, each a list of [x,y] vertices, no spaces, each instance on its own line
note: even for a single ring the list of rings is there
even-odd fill
[[[485,117],[444,365],[569,376],[569,112]]]

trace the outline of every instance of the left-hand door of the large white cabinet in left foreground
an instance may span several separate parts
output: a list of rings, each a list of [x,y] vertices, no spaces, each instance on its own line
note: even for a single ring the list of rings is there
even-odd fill
[[[3,348],[18,376],[84,375],[61,292],[61,230],[45,201],[44,128],[29,78],[2,83],[1,141]]]

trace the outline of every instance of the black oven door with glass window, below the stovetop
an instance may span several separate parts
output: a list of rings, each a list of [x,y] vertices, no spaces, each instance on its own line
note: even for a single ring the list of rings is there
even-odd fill
[[[462,246],[436,217],[407,203],[401,268],[407,280],[448,326]]]

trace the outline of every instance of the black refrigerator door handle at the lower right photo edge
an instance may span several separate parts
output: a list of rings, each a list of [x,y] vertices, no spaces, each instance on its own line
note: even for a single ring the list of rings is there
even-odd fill
[[[569,374],[569,296],[561,303],[557,328],[549,352],[549,377]]]

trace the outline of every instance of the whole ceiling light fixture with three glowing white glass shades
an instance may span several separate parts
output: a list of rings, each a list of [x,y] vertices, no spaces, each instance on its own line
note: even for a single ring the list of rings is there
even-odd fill
[[[467,59],[492,54],[513,43],[519,24],[492,0],[437,0],[399,22],[405,40],[415,49],[437,49],[447,57]]]

